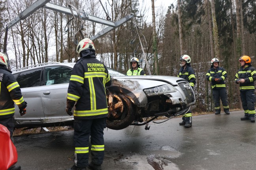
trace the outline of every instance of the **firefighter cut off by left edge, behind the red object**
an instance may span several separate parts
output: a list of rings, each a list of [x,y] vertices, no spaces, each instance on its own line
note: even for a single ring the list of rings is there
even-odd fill
[[[21,94],[21,89],[7,68],[9,66],[8,58],[0,52],[0,124],[6,126],[10,131],[10,137],[13,140],[14,103],[19,106],[21,116],[26,114],[26,102]],[[8,170],[20,170],[21,166],[11,166]]]

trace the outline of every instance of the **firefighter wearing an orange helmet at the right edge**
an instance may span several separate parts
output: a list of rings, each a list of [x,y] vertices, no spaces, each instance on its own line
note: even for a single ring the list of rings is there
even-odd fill
[[[254,81],[256,80],[256,70],[251,65],[251,59],[247,55],[239,58],[241,68],[235,74],[235,82],[240,85],[240,96],[245,116],[241,120],[255,122],[255,94]]]

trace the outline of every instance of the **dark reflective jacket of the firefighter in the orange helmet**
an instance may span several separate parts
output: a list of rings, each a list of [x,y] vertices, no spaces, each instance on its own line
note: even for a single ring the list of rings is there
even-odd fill
[[[240,91],[254,89],[254,81],[256,80],[256,70],[251,65],[245,68],[241,67],[237,74],[235,74],[235,81],[237,79],[245,79],[245,83],[240,83]]]

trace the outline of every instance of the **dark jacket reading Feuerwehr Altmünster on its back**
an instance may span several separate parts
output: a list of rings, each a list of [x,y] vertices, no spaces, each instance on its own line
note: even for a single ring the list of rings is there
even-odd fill
[[[67,99],[77,102],[74,119],[107,117],[105,86],[111,85],[107,67],[95,57],[80,58],[74,65]]]

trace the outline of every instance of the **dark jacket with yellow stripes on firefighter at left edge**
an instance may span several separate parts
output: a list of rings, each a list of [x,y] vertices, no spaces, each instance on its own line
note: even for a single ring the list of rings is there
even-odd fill
[[[21,89],[11,71],[0,66],[0,119],[12,117],[15,113],[14,103],[20,109],[26,107]]]

